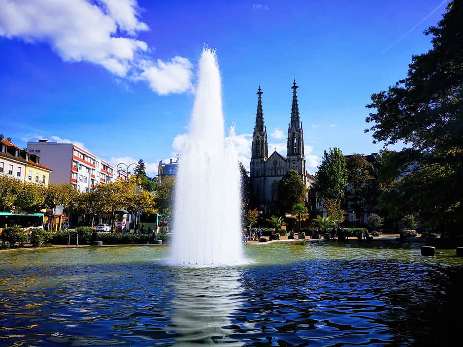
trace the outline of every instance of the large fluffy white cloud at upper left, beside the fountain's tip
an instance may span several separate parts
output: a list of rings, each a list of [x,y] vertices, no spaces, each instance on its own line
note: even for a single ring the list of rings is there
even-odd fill
[[[136,0],[0,0],[0,36],[47,42],[66,62],[89,62],[146,80],[161,95],[192,88],[192,64],[153,60],[136,34],[148,30]]]

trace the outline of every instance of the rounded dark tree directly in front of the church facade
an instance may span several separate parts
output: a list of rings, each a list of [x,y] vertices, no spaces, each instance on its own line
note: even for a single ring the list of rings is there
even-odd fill
[[[294,204],[303,203],[307,187],[298,171],[289,169],[278,185],[278,197],[282,212],[289,212]]]

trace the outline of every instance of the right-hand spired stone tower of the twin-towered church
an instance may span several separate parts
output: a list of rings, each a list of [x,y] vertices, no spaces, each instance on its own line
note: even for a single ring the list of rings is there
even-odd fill
[[[291,107],[291,122],[288,125],[288,144],[287,144],[287,162],[288,169],[298,171],[305,183],[305,156],[304,156],[304,134],[302,131],[302,122],[299,118],[298,92],[299,87],[294,80],[293,87],[293,105]]]

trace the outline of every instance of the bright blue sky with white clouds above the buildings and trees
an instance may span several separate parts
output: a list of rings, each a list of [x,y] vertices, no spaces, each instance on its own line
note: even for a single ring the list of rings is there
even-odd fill
[[[155,175],[181,153],[207,45],[245,166],[259,84],[269,152],[286,154],[295,78],[314,173],[330,147],[381,149],[363,132],[365,104],[430,49],[423,31],[447,3],[0,0],[0,132],[20,147],[46,138],[115,164],[143,158]]]

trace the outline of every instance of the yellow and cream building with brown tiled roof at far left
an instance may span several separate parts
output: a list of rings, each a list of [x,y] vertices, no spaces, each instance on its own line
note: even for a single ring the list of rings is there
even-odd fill
[[[0,174],[25,182],[48,185],[51,168],[40,162],[40,157],[20,149],[11,138],[0,134]]]

